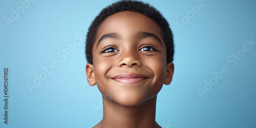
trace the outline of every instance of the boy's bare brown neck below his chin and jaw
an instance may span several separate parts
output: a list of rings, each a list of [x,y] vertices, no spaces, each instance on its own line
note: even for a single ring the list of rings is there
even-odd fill
[[[95,127],[160,127],[155,121],[156,99],[124,106],[102,96],[103,119]]]

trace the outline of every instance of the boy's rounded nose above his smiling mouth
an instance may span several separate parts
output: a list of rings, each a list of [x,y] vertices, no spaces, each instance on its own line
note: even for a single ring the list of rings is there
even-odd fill
[[[120,67],[140,67],[141,61],[136,51],[122,51],[118,65]]]

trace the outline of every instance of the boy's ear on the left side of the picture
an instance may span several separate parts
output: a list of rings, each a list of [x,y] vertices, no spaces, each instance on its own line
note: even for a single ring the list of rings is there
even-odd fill
[[[91,63],[87,63],[86,65],[86,75],[87,75],[87,81],[90,84],[90,86],[95,86],[96,80],[94,75],[94,68]]]

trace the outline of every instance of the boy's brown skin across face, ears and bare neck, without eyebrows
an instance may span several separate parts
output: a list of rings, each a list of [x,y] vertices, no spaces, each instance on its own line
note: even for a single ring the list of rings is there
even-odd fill
[[[160,41],[138,36],[142,32]],[[110,33],[118,36],[100,40]],[[166,63],[166,46],[154,20],[137,12],[115,13],[101,24],[92,51],[87,79],[91,86],[97,84],[104,106],[103,119],[94,127],[160,127],[157,94],[172,81],[174,64]]]

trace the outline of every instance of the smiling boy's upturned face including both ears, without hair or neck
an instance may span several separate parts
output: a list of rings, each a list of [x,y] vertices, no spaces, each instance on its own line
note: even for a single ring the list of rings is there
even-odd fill
[[[166,47],[153,19],[123,11],[101,24],[87,65],[89,84],[102,95],[126,106],[153,98],[169,84],[174,65],[166,64]]]

